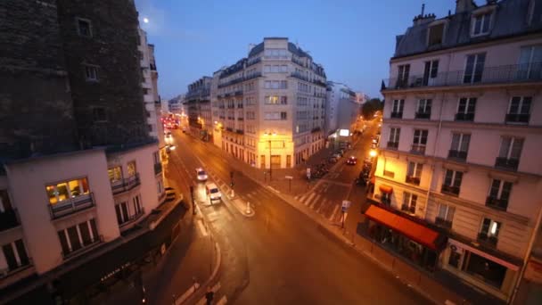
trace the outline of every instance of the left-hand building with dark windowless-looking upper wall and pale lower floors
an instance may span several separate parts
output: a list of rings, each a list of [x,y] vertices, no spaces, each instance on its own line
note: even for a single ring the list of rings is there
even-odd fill
[[[62,284],[165,192],[133,1],[10,0],[0,10],[11,12],[0,21],[0,38],[10,42],[0,55],[3,303],[21,279],[24,289]]]

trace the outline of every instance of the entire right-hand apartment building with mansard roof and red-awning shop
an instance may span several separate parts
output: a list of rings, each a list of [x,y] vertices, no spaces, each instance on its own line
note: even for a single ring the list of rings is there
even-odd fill
[[[458,0],[397,37],[378,203],[365,212],[390,251],[502,301],[542,215],[541,12],[539,1]]]

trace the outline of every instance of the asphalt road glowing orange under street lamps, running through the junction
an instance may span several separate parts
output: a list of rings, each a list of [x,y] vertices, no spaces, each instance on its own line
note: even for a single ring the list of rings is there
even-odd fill
[[[177,149],[169,167],[185,170],[185,183],[195,182],[194,169],[204,166],[229,183],[233,170],[223,152],[210,143],[174,132]],[[361,155],[361,141],[353,151]],[[327,202],[340,202],[351,189],[361,165],[342,167],[330,179]],[[172,170],[172,169],[169,169]],[[326,230],[283,202],[267,188],[236,172],[235,194],[250,200],[256,211],[244,218],[231,202],[208,206],[202,185],[196,187],[198,204],[223,253],[220,293],[237,304],[425,304],[430,303],[395,277],[338,242]],[[319,187],[324,185],[321,183]],[[325,186],[324,186],[325,188]],[[322,192],[323,189],[316,190]],[[331,191],[330,191],[331,190]],[[325,194],[328,193],[328,194]],[[362,196],[359,188],[351,195]],[[333,208],[321,209],[329,212]],[[331,210],[333,213],[333,210]]]

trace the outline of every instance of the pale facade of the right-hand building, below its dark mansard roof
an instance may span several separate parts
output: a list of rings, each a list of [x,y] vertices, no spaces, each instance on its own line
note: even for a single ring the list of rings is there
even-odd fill
[[[539,34],[398,56],[382,90],[374,199],[448,230],[439,268],[505,301],[542,211],[536,56]]]

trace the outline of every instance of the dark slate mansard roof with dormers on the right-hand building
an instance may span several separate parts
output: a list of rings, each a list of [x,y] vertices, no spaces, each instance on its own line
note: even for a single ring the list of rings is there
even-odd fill
[[[502,0],[496,4],[486,4],[469,12],[450,14],[439,20],[434,20],[434,15],[417,16],[415,25],[406,29],[405,34],[396,37],[395,54],[393,58],[404,57],[413,54],[448,49],[460,45],[471,45],[503,37],[520,36],[528,33],[539,32],[542,29],[542,4],[535,4],[531,24],[526,22],[529,14],[530,1],[534,0]],[[484,8],[495,6],[492,17],[492,28],[489,35],[471,37],[472,13],[480,12]],[[426,43],[428,29],[434,21],[445,21],[443,41],[440,45],[429,47]]]

